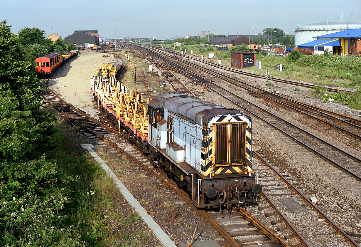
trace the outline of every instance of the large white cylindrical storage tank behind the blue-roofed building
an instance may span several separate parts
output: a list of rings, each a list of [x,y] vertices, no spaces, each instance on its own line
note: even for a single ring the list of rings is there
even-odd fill
[[[295,46],[315,40],[313,37],[332,34],[346,29],[360,29],[361,23],[356,22],[321,22],[297,25],[295,32]]]

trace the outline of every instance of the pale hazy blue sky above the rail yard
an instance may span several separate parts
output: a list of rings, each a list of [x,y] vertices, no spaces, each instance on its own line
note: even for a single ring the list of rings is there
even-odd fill
[[[352,22],[361,23],[361,0],[1,0],[0,6],[0,21],[6,20],[12,33],[37,27],[45,36],[55,33],[63,39],[74,30],[95,29],[107,39],[164,39],[201,31],[252,35],[267,27],[293,35],[299,24],[351,22],[351,12]]]

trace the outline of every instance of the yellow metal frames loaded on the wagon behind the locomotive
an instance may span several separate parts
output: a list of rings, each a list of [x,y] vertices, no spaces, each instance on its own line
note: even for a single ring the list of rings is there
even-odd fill
[[[151,99],[143,100],[142,94],[136,94],[117,81],[115,76],[118,69],[113,64],[101,65],[93,75],[92,92],[98,98],[98,104],[118,120],[118,130],[122,122],[143,141],[148,141],[147,112]]]

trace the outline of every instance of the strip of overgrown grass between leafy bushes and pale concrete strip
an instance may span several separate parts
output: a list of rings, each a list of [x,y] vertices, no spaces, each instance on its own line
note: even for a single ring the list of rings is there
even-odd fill
[[[119,196],[119,190],[89,153],[79,153],[70,148],[70,140],[61,134],[69,131],[64,122],[59,122],[57,129],[54,141],[58,148],[49,157],[57,160],[58,166],[69,176],[76,178],[69,185],[72,193],[64,207],[64,215],[67,215],[64,223],[66,226],[73,226],[73,234],[81,236],[81,241],[90,246],[104,246],[110,229],[105,226],[103,212],[112,207],[113,199]],[[71,237],[73,236],[64,235],[64,239]]]

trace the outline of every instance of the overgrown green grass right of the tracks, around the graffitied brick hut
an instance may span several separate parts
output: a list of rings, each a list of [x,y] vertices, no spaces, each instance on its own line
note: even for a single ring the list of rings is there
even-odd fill
[[[194,56],[208,56],[208,53],[222,60],[231,60],[230,51],[218,51],[216,47],[201,47],[201,45],[182,45],[180,50],[187,49],[187,54],[193,50]],[[355,109],[361,109],[361,57],[358,56],[322,56],[302,55],[298,60],[291,61],[284,56],[266,55],[256,53],[256,61],[261,62],[262,69],[248,68],[265,74],[266,70],[270,75],[287,77],[298,81],[315,83],[316,85],[331,84],[338,87],[356,88],[352,93],[330,94],[334,101],[343,102]],[[282,64],[283,71],[277,71],[277,64]],[[317,87],[317,86],[316,86]],[[295,88],[299,91],[299,87]],[[325,93],[317,93],[323,99]],[[325,96],[326,97],[326,96]]]

